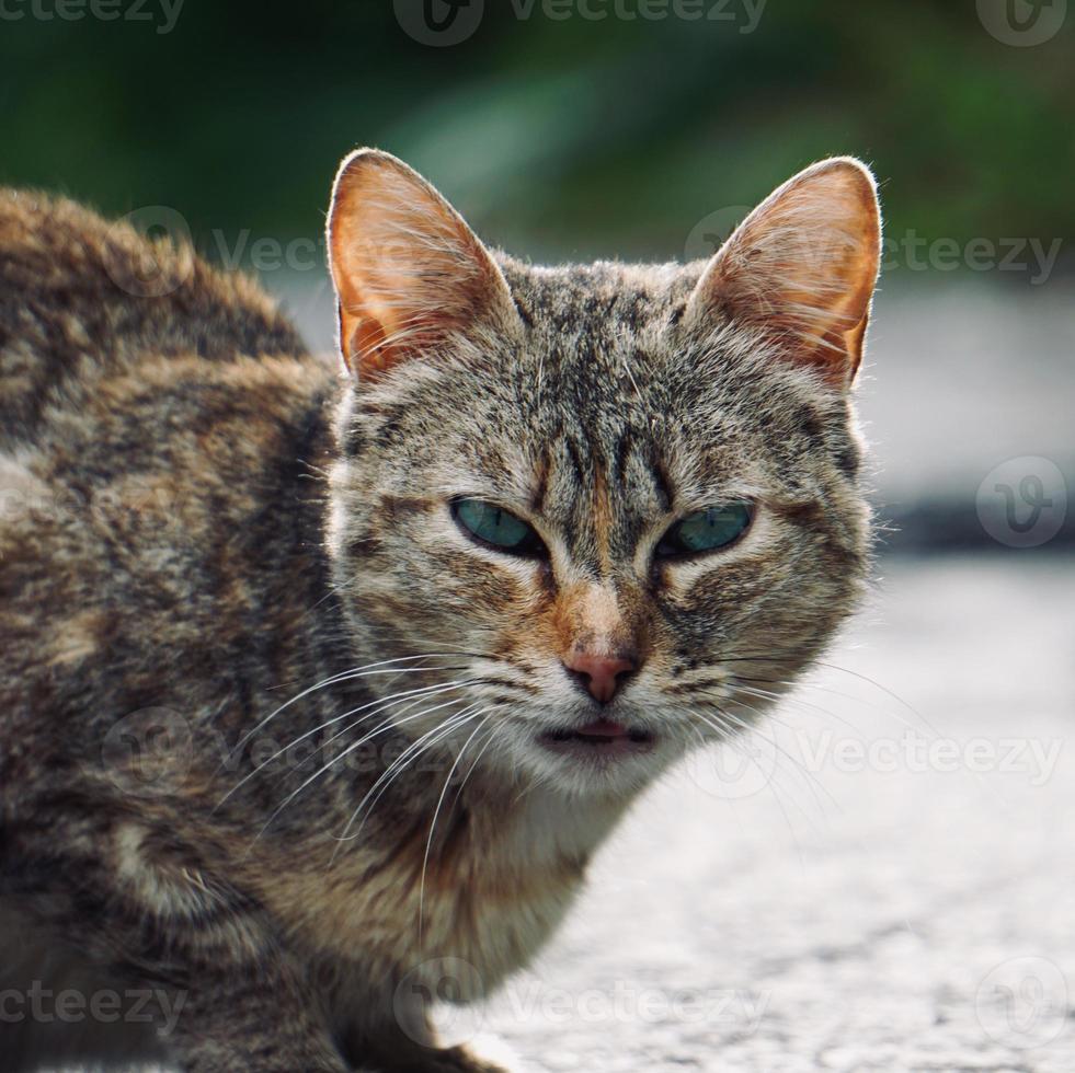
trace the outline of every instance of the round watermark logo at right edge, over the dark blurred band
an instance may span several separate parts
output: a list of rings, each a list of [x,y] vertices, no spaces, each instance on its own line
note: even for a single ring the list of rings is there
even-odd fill
[[[977,489],[982,528],[1008,547],[1039,547],[1063,528],[1067,482],[1055,462],[1027,455],[992,470]]]

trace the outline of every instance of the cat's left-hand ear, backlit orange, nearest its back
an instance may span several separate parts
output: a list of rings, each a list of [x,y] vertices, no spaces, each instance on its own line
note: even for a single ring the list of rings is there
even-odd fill
[[[329,262],[348,370],[376,377],[479,325],[519,322],[507,281],[462,217],[390,153],[359,149],[340,165]]]

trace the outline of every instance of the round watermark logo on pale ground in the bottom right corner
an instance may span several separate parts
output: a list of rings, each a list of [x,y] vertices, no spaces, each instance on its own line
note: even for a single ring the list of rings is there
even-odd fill
[[[974,1012],[997,1043],[1014,1050],[1044,1047],[1067,1022],[1067,981],[1048,958],[1011,958],[982,981]]]

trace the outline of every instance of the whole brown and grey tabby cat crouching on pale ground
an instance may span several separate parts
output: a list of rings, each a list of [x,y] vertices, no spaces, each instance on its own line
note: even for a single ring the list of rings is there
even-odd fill
[[[493,1070],[430,1000],[526,965],[867,584],[858,161],[708,261],[546,268],[364,149],[328,250],[342,362],[186,246],[0,195],[9,1071]]]

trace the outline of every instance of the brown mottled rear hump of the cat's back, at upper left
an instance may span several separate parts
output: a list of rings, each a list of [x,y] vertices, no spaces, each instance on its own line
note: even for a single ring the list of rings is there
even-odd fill
[[[251,280],[66,198],[0,189],[0,449],[34,445],[101,380],[171,357],[300,355]]]

